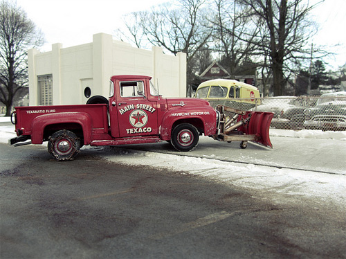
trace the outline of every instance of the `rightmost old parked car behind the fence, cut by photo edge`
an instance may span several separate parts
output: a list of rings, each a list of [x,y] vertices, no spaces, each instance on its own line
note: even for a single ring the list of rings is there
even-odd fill
[[[316,107],[304,111],[304,127],[311,130],[346,130],[346,91],[325,93]]]

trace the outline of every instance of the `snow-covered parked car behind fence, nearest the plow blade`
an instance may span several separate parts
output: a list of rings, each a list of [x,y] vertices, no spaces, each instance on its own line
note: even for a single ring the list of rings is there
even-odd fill
[[[307,97],[277,96],[264,98],[262,105],[253,108],[253,111],[271,111],[274,118],[271,127],[286,129],[302,129],[304,110],[315,105],[313,99]]]

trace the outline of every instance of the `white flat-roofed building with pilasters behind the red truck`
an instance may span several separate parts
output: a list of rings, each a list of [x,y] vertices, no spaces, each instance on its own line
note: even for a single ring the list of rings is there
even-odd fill
[[[52,51],[28,51],[31,105],[85,104],[90,96],[109,95],[111,75],[149,75],[165,97],[186,95],[186,55],[165,55],[161,47],[134,48],[100,33],[93,42]]]

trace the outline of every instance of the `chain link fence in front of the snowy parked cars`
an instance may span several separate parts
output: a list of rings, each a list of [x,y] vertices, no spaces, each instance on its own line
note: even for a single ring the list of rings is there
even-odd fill
[[[277,129],[346,130],[346,92],[322,96],[258,98],[255,99],[253,105],[244,100],[210,100],[209,102],[212,107],[225,105],[246,111],[273,112],[271,127]]]

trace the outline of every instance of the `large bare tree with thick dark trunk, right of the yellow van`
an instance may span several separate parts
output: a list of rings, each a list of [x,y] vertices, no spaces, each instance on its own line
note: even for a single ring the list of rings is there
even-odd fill
[[[285,69],[289,62],[298,62],[307,58],[307,41],[313,33],[313,23],[307,19],[314,6],[304,0],[242,0],[251,7],[253,14],[261,21],[258,25],[264,33],[260,41],[261,48],[270,57],[273,73],[273,91],[275,96],[284,91]]]

